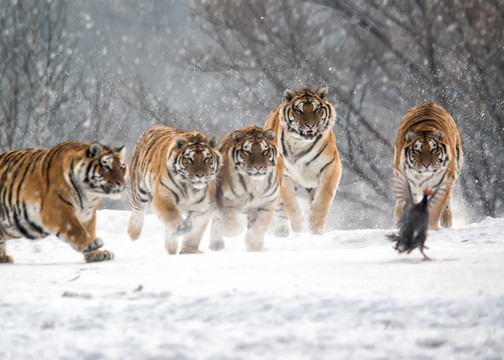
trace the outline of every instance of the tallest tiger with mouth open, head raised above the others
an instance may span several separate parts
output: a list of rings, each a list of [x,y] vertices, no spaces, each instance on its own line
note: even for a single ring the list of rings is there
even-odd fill
[[[313,234],[322,234],[341,178],[341,162],[332,127],[336,111],[326,97],[327,87],[317,90],[284,91],[285,101],[273,110],[264,126],[273,129],[285,164],[281,203],[276,214],[275,234],[299,232],[304,217],[297,201],[297,187],[309,195],[308,223]],[[286,214],[287,216],[286,216]]]

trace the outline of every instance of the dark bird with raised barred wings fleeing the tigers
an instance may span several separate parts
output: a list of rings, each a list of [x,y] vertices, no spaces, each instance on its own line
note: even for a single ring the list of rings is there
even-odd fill
[[[395,169],[390,184],[396,199],[403,201],[405,205],[401,218],[397,222],[399,235],[393,234],[387,235],[387,237],[396,243],[395,249],[399,253],[406,252],[409,254],[419,248],[424,260],[432,260],[423,251],[424,248],[428,249],[424,244],[429,226],[429,207],[434,205],[445,193],[447,182],[443,182],[442,179],[441,185],[434,193],[429,189],[424,189],[422,200],[416,204],[413,201],[411,188],[403,171]]]

